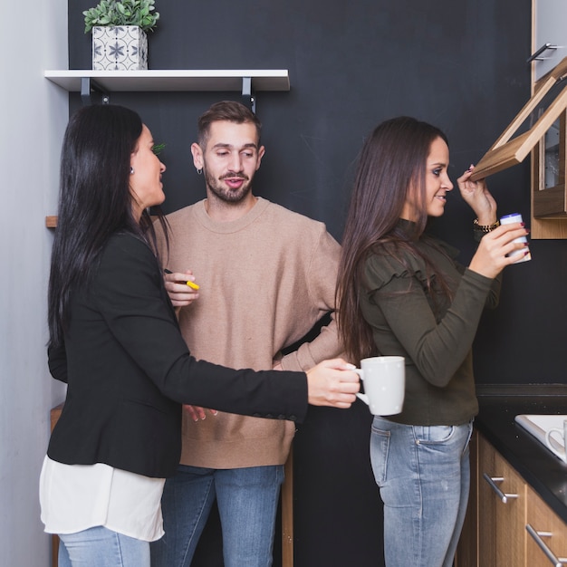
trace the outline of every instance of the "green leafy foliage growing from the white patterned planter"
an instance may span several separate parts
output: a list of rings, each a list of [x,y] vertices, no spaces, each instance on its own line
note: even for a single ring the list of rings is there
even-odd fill
[[[95,25],[138,25],[144,32],[152,31],[159,20],[155,0],[101,0],[94,8],[85,10],[84,33]]]

